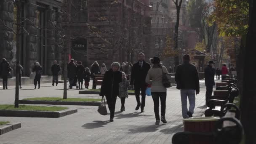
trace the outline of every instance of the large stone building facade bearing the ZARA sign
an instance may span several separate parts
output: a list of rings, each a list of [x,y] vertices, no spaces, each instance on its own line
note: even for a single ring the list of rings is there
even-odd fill
[[[149,56],[149,0],[72,2],[77,4],[71,6],[72,58],[86,67],[98,61],[109,68],[113,61],[137,61],[139,52]]]

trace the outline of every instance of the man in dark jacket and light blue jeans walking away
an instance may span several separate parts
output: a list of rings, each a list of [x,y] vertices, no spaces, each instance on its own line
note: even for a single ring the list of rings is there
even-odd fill
[[[183,64],[177,66],[175,81],[177,89],[181,90],[182,117],[193,117],[195,109],[195,93],[199,94],[199,77],[195,65],[190,64],[190,56],[183,56]],[[187,97],[189,98],[189,110],[187,109]]]

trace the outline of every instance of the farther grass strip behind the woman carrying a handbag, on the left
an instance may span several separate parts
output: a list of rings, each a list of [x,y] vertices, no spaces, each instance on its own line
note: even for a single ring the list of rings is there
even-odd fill
[[[31,101],[86,101],[86,102],[97,102],[101,101],[101,99],[85,99],[85,98],[58,98],[58,97],[41,97],[41,98],[28,98],[22,100],[31,100]]]

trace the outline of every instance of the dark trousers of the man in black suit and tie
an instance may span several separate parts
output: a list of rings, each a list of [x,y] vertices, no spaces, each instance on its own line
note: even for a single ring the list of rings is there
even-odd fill
[[[134,92],[135,92],[135,96],[136,96],[136,101],[137,104],[141,104],[141,107],[145,107],[145,100],[146,100],[146,85],[142,84],[142,85],[134,85]],[[141,102],[139,99],[139,95],[140,95],[140,91],[141,91]]]

